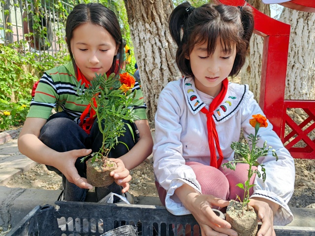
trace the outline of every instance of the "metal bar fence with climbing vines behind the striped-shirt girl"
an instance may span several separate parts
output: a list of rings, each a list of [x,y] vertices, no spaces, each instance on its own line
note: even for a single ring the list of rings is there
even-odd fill
[[[25,55],[54,56],[66,47],[65,21],[73,5],[60,0],[0,0],[0,44],[14,43]]]

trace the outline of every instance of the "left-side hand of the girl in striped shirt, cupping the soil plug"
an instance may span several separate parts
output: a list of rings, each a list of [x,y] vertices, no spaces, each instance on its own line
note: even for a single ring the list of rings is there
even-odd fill
[[[69,182],[74,183],[80,188],[92,189],[93,186],[88,183],[86,178],[80,177],[77,169],[74,166],[78,157],[86,156],[90,154],[91,151],[92,149],[78,149],[60,152],[60,158],[56,159],[54,167],[63,173]]]

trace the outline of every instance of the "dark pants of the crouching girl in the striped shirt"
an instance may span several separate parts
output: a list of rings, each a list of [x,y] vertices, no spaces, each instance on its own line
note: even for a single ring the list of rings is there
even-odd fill
[[[128,121],[127,121],[128,122]],[[130,122],[129,122],[130,124]],[[134,127],[134,124],[130,124]],[[119,143],[109,153],[110,158],[118,158],[128,152],[134,145],[132,134],[126,126],[124,136],[118,138],[119,142],[125,143],[128,148]],[[135,132],[134,132],[135,133]],[[134,136],[136,137],[136,135]],[[88,135],[76,122],[74,122],[65,112],[57,113],[51,116],[47,123],[40,130],[39,139],[49,148],[59,152],[70,151],[74,149],[92,149],[92,152],[98,152],[102,144],[102,133],[99,131],[98,124],[95,120],[90,135]],[[75,167],[81,177],[86,178],[86,164],[81,163],[82,157],[78,157]],[[82,189],[73,183],[70,183],[63,174],[52,166],[47,166],[50,171],[55,171],[63,177],[63,191],[65,201],[84,202],[88,189]],[[115,182],[108,187],[95,187],[96,200],[99,201],[110,192],[122,194],[122,188]],[[114,199],[116,200],[116,199]]]

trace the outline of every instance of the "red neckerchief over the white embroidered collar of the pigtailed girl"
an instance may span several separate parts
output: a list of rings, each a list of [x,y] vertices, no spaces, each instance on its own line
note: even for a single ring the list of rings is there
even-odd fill
[[[203,107],[200,111],[204,114],[207,115],[207,129],[208,129],[208,142],[209,142],[209,148],[210,148],[210,166],[213,166],[217,169],[221,166],[222,160],[223,160],[223,154],[220,148],[220,143],[219,143],[219,137],[216,129],[216,124],[213,119],[213,113],[215,109],[221,104],[223,101],[226,91],[227,91],[227,85],[228,85],[228,80],[225,78],[222,81],[222,89],[218,96],[216,96],[213,101],[211,102],[209,106],[209,111]],[[213,140],[216,142],[216,146],[213,142]],[[216,154],[216,147],[219,153],[219,160],[217,161],[217,154]]]

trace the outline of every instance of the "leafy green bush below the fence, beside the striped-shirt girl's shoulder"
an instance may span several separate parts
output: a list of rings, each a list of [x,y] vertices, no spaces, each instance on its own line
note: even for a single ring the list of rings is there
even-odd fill
[[[21,42],[20,42],[21,43]],[[0,45],[0,130],[22,124],[30,108],[32,87],[45,70],[63,64],[64,53],[41,54],[18,53],[19,45]]]

